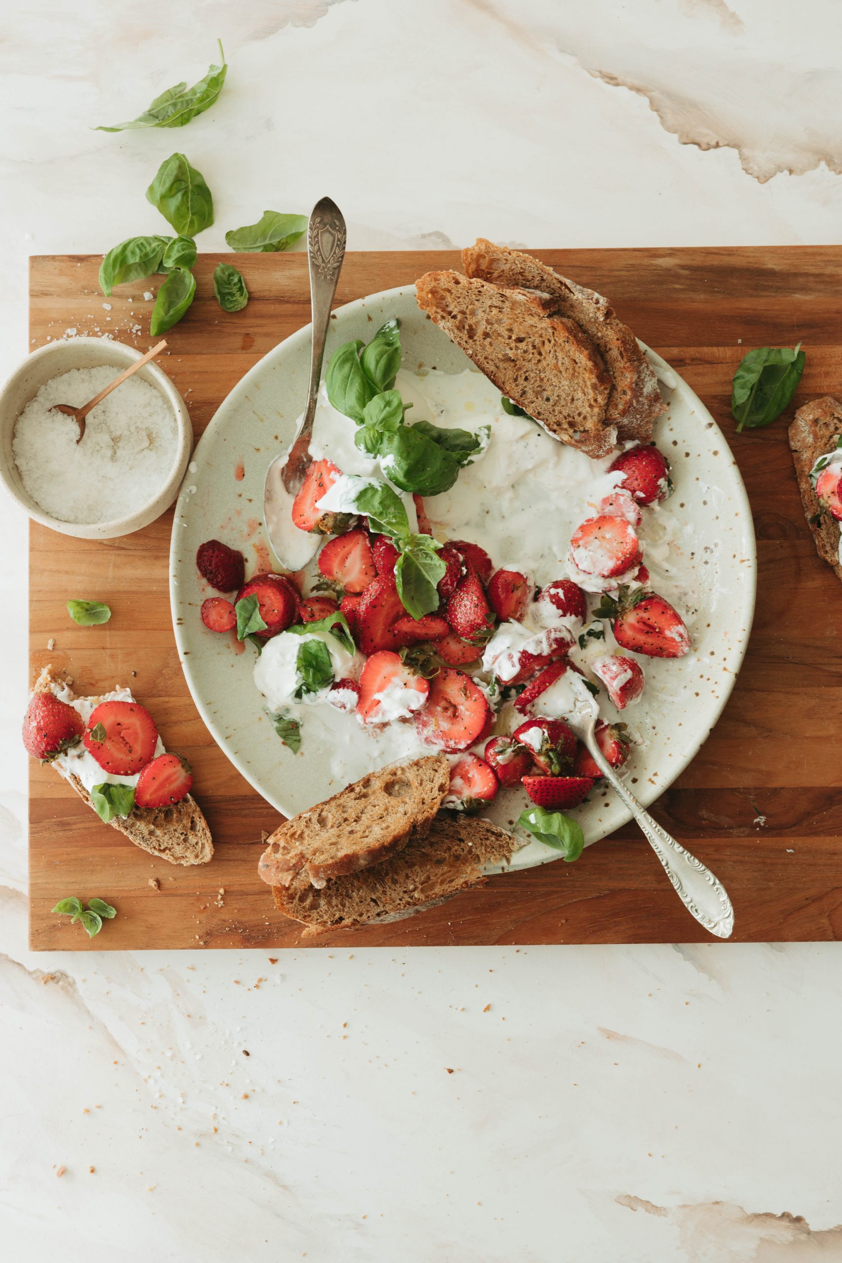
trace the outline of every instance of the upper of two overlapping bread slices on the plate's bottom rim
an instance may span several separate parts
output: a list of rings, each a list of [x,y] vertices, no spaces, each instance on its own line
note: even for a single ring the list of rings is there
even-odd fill
[[[370,772],[279,825],[258,871],[269,885],[316,885],[356,873],[427,832],[451,783],[443,754]]]

